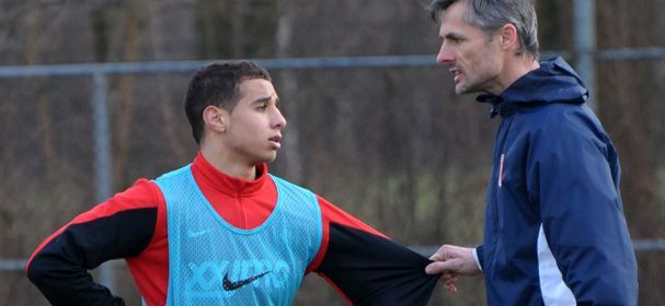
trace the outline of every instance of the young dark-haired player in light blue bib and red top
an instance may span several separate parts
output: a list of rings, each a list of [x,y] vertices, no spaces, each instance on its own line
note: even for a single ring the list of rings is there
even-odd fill
[[[278,102],[252,62],[199,70],[185,98],[194,162],[58,229],[30,280],[55,305],[123,305],[88,270],[125,258],[148,305],[289,305],[311,271],[355,304],[426,304],[438,279],[426,258],[267,173],[286,126]]]

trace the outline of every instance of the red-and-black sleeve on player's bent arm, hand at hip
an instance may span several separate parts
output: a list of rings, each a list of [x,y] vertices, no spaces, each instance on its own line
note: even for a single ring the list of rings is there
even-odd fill
[[[138,256],[157,222],[157,202],[148,180],[78,215],[30,258],[25,272],[53,305],[124,305],[88,272],[101,263]]]

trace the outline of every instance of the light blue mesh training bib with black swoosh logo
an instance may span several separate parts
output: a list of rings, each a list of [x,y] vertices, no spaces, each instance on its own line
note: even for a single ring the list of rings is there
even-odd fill
[[[190,166],[154,180],[167,201],[167,305],[291,304],[321,244],[321,211],[312,192],[271,177],[277,203],[252,229],[219,216]]]

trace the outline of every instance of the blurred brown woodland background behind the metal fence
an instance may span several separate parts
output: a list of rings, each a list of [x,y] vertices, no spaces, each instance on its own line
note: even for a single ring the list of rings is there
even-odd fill
[[[665,2],[597,1],[600,48],[663,46]],[[422,55],[438,50],[424,1],[4,0],[0,63]],[[543,50],[572,47],[572,0],[538,1]],[[574,59],[571,59],[574,63]],[[600,61],[598,116],[619,150],[633,238],[665,237],[665,59]],[[113,76],[113,189],[188,163],[191,73]],[[271,168],[404,245],[481,242],[498,120],[458,97],[442,67],[275,70],[288,128]],[[26,258],[94,204],[89,78],[0,79],[0,258]],[[638,254],[640,304],[663,305],[662,252]],[[118,294],[140,305],[129,274]],[[433,305],[483,305],[481,279]],[[296,304],[343,305],[310,275]],[[23,273],[0,274],[1,305],[46,305]]]

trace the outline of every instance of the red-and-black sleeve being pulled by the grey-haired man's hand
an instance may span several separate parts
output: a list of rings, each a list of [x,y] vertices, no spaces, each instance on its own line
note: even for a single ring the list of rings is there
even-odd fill
[[[326,201],[328,246],[316,271],[355,305],[426,305],[439,275],[431,261]],[[325,231],[324,231],[325,232]]]

